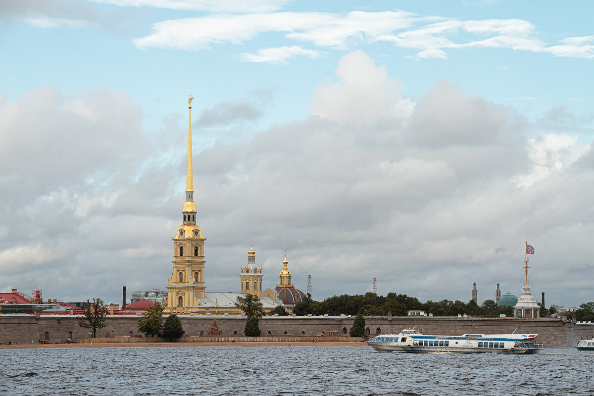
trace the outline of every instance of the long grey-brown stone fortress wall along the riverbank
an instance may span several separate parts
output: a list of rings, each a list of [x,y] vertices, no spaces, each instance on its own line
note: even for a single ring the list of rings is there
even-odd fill
[[[215,316],[181,315],[184,331],[189,336],[206,335]],[[140,316],[107,316],[105,328],[97,329],[97,337],[106,334],[113,337],[138,335]],[[216,316],[223,335],[243,335],[244,316]],[[165,319],[163,319],[165,320]],[[461,335],[465,333],[520,334],[538,333],[538,343],[545,347],[571,347],[573,343],[594,337],[594,324],[574,324],[560,319],[474,318],[441,316],[368,316],[365,327],[371,334],[398,333],[404,328],[413,328],[423,334]],[[261,335],[315,336],[328,335],[337,330],[339,335],[348,335],[353,324],[350,316],[265,316],[260,320]],[[69,332],[72,338],[89,338],[89,329],[78,326],[78,318],[71,315],[0,315],[0,343],[34,343],[45,338],[66,342]],[[113,332],[113,334],[112,334]]]

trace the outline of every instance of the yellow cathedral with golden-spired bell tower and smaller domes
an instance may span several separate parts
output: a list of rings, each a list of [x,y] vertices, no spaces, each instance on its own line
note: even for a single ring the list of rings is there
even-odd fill
[[[207,292],[205,283],[206,259],[204,245],[206,237],[197,224],[197,211],[194,202],[194,182],[192,174],[192,99],[188,100],[188,158],[186,173],[185,201],[182,207],[182,224],[176,229],[173,240],[173,268],[168,280],[168,298],[163,302],[164,311],[168,313],[211,313],[240,315],[241,311],[235,306],[238,296],[254,294],[263,303],[266,312],[282,305],[277,294],[262,292],[262,268],[255,263],[253,245],[248,251],[248,262],[240,271],[239,293]],[[286,261],[286,256],[285,256]],[[290,272],[286,262],[283,271],[289,274],[285,286],[292,287]],[[281,274],[283,274],[281,271]],[[279,281],[280,282],[280,281]],[[292,290],[296,290],[293,289]],[[302,292],[299,292],[303,294]]]

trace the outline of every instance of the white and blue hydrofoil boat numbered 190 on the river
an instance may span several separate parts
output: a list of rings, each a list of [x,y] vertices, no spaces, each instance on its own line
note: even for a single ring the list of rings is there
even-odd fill
[[[416,332],[416,331],[415,331]],[[368,345],[378,351],[410,353],[536,353],[542,345],[535,344],[538,334],[419,334],[378,335]],[[398,338],[396,338],[398,337]]]

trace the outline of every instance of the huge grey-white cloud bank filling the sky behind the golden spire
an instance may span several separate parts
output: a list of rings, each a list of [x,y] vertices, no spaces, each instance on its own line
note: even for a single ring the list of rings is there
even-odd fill
[[[584,302],[591,287],[567,274],[591,275],[592,143],[535,138],[513,107],[448,81],[416,103],[402,99],[396,77],[355,51],[337,63],[335,83],[314,90],[305,119],[235,139],[245,117],[214,117],[229,133],[194,142],[208,290],[239,289],[253,238],[266,287],[286,249],[296,286],[311,274],[316,299],[365,293],[377,277],[380,293],[421,300],[470,300],[476,281],[480,302],[497,282],[519,292],[528,237],[533,291]],[[254,96],[228,103],[257,109]],[[142,117],[110,90],[0,94],[0,290],[118,301],[122,284],[165,288],[187,113],[153,134]]]

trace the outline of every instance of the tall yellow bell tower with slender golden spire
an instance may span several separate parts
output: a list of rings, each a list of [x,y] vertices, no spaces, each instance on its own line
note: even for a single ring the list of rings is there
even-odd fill
[[[173,239],[173,273],[167,284],[168,312],[198,311],[199,299],[204,298],[204,241],[196,224],[196,204],[192,177],[192,99],[188,100],[188,164],[186,199],[182,208],[182,224]]]

